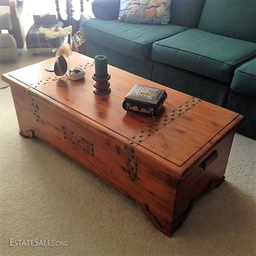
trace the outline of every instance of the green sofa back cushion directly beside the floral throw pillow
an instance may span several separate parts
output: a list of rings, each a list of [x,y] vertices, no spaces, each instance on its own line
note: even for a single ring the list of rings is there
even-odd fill
[[[197,28],[205,0],[172,0],[170,24]]]

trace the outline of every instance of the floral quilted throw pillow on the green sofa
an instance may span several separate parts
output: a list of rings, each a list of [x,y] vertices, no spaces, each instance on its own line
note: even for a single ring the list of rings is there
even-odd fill
[[[121,0],[118,20],[130,23],[168,24],[171,0]]]

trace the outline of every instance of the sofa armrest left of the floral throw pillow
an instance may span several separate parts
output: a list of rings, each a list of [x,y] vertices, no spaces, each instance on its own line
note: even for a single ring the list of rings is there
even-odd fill
[[[96,18],[102,20],[118,19],[120,0],[94,0],[92,12]]]

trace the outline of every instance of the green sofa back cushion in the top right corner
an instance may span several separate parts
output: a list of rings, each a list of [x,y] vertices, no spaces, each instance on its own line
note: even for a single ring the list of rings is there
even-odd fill
[[[256,0],[206,0],[199,29],[256,42]]]

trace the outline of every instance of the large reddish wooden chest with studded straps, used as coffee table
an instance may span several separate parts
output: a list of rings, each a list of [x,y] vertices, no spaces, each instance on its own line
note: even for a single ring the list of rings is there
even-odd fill
[[[134,84],[160,84],[109,66],[111,93],[94,95],[93,59],[73,53],[84,81],[44,70],[54,59],[2,78],[12,88],[20,134],[36,136],[125,193],[167,236],[196,198],[224,180],[234,129],[243,119],[227,109],[165,88],[168,99],[152,118],[122,109]]]

